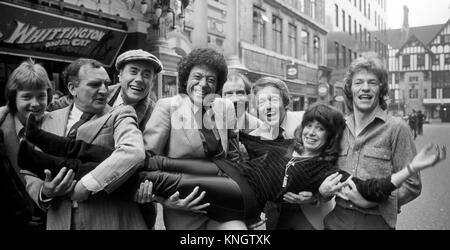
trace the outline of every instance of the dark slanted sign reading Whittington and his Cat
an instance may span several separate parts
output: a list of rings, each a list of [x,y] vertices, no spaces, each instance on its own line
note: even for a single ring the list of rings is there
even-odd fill
[[[93,58],[111,66],[126,31],[0,3],[0,53],[48,60]]]

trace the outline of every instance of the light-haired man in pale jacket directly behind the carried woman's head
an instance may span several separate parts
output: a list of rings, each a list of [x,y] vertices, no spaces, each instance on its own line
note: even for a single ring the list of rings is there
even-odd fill
[[[286,83],[280,79],[263,77],[253,86],[256,98],[258,118],[264,124],[250,133],[266,140],[293,139],[300,126],[304,112],[287,110],[290,102]],[[323,218],[333,207],[331,202],[311,205],[317,198],[309,192],[284,195],[287,203],[275,204],[269,202],[266,206],[266,227],[274,229],[323,229]]]

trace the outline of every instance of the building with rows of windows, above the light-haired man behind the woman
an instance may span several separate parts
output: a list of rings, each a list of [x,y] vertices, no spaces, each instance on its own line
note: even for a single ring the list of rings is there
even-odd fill
[[[231,70],[252,82],[263,76],[284,80],[291,108],[305,110],[328,86],[324,0],[230,0],[224,53]],[[328,97],[327,90],[322,97]]]

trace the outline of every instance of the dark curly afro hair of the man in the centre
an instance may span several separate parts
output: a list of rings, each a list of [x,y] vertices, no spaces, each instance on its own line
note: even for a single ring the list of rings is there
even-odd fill
[[[191,70],[195,66],[206,65],[217,72],[216,93],[222,92],[222,87],[227,81],[228,65],[225,57],[214,49],[194,49],[189,55],[181,59],[178,64],[178,78],[180,94],[187,94],[187,81]]]

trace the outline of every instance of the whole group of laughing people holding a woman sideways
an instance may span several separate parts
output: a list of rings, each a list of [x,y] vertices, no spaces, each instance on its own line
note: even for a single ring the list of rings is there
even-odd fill
[[[182,58],[179,94],[157,102],[158,58],[130,50],[115,66],[110,86],[101,63],[75,60],[64,71],[70,95],[53,101],[39,64],[11,74],[2,227],[28,229],[43,211],[49,230],[153,229],[159,202],[169,230],[390,230],[419,196],[419,172],[446,158],[438,145],[417,154],[387,113],[377,58],[350,66],[347,116],[326,104],[291,112],[285,82],[252,84],[213,49]]]

